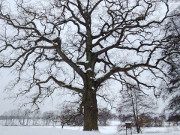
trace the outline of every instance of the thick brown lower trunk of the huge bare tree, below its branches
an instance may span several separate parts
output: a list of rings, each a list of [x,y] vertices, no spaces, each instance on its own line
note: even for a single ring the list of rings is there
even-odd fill
[[[88,91],[84,95],[84,131],[98,130],[98,108],[96,93]]]

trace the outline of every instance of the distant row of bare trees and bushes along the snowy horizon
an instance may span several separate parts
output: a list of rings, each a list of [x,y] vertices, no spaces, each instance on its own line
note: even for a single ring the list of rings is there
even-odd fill
[[[127,106],[127,104],[125,104]],[[141,108],[142,104],[136,104],[137,110]],[[136,130],[141,131],[141,127],[161,127],[172,125],[178,125],[180,116],[169,116],[166,118],[165,114],[159,115],[148,111],[148,108],[144,107],[144,110],[138,110],[138,114],[134,114],[133,105],[128,105],[128,108],[119,107],[117,115],[110,113],[110,110],[103,108],[99,111],[99,125],[107,126],[110,121],[118,120],[122,123],[119,130],[124,129],[126,122],[133,122],[133,126]],[[124,110],[128,110],[128,113],[123,113]],[[150,113],[151,112],[151,113]],[[166,123],[166,124],[165,124]],[[0,116],[0,124],[5,126],[82,126],[83,116],[75,115],[73,109],[64,109],[63,111],[47,111],[47,112],[31,112],[29,109],[24,111],[11,110]],[[170,126],[170,125],[169,125]]]

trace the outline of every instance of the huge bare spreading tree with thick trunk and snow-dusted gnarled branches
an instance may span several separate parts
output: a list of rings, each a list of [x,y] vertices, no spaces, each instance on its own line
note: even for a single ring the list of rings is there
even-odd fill
[[[168,17],[168,1],[35,2],[17,0],[11,8],[3,1],[0,8],[0,68],[17,71],[9,88],[19,89],[17,96],[38,107],[53,93],[69,90],[82,99],[84,130],[98,130],[96,96],[106,82],[124,85],[131,79],[155,90],[163,74],[159,28]],[[156,80],[142,79],[147,73]]]

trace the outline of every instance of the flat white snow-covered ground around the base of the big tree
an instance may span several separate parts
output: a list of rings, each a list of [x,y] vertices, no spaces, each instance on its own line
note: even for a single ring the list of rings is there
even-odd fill
[[[82,127],[0,126],[0,135],[125,135],[125,132],[117,132],[116,126],[100,127],[99,132],[85,132]],[[180,127],[144,128],[139,135],[180,135]]]

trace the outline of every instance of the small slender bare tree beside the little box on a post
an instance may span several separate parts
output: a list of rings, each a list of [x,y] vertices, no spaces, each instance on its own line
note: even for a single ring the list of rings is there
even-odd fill
[[[131,121],[137,133],[140,133],[141,127],[146,124],[145,119],[155,110],[153,99],[133,85],[128,85],[127,90],[121,91],[121,94],[118,108],[121,119]]]

